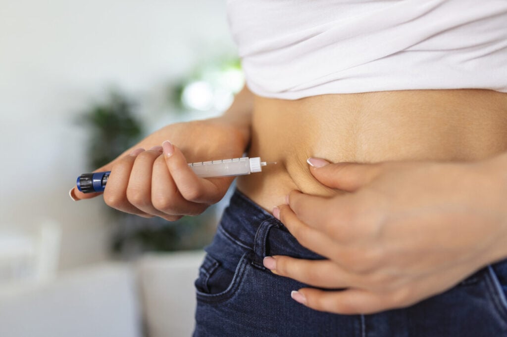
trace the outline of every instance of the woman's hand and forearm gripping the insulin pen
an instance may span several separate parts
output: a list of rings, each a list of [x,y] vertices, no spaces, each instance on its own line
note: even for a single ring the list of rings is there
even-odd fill
[[[167,220],[203,212],[224,196],[233,178],[197,178],[187,162],[240,157],[250,139],[252,105],[245,86],[222,116],[167,125],[127,149],[95,170],[111,171],[104,201],[126,213]],[[166,140],[174,146],[171,156],[163,154]],[[79,200],[99,193],[74,187],[70,195]]]

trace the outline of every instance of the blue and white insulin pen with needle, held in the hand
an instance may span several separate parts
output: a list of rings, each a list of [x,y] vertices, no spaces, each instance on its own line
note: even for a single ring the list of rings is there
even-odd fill
[[[262,172],[262,166],[276,162],[261,161],[260,157],[232,158],[212,161],[191,162],[188,165],[201,178],[231,177]],[[85,173],[78,177],[78,190],[83,193],[103,192],[111,171]]]

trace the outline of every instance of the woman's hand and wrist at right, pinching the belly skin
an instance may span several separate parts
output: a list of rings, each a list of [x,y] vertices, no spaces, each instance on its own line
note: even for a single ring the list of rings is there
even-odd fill
[[[266,258],[306,306],[340,314],[407,307],[507,257],[507,153],[477,162],[324,164],[310,171],[343,191],[293,191],[274,215],[326,260]],[[336,290],[340,289],[340,290]]]

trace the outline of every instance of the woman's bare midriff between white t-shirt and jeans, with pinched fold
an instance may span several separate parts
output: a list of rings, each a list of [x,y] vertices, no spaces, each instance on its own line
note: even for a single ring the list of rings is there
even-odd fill
[[[237,186],[271,211],[293,189],[335,193],[313,178],[308,157],[475,160],[506,149],[507,94],[495,91],[392,91],[294,101],[256,96],[248,155],[277,164],[240,177]]]

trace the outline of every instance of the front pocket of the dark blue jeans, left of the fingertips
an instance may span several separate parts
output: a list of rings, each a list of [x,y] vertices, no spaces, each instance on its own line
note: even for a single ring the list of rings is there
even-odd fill
[[[216,260],[209,253],[199,268],[199,277],[195,281],[197,299],[206,302],[225,301],[230,298],[241,283],[244,269],[249,264],[245,253],[235,272],[223,268],[220,261]]]

